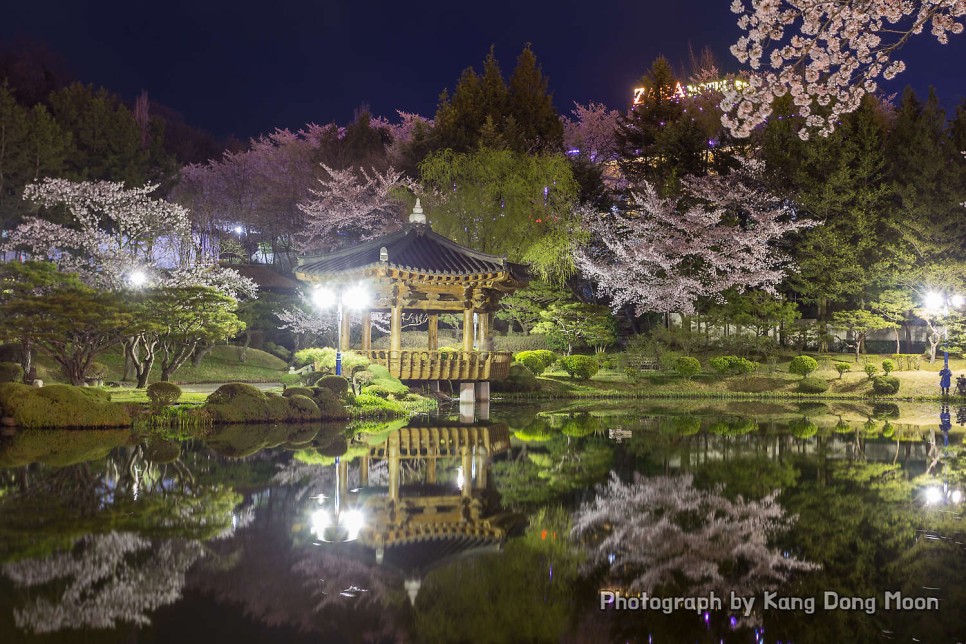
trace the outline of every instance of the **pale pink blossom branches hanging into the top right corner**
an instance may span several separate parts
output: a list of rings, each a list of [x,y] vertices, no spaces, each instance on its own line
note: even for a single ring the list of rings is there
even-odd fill
[[[725,92],[722,122],[746,137],[790,93],[804,117],[799,136],[827,136],[839,117],[905,69],[896,52],[929,28],[941,43],[963,31],[963,0],[733,0],[745,35],[731,53],[753,70]]]

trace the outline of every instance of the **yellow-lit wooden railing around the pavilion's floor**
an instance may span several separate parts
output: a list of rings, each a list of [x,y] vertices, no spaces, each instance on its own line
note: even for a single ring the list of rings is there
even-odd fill
[[[400,380],[504,380],[509,351],[360,351]]]

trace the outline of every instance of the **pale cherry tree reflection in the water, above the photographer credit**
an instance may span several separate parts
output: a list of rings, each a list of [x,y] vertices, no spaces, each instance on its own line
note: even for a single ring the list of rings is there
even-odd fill
[[[796,519],[777,490],[759,501],[723,491],[696,488],[691,474],[624,483],[611,473],[575,512],[571,534],[591,544],[589,568],[608,567],[610,580],[632,593],[752,595],[818,568],[769,546]]]

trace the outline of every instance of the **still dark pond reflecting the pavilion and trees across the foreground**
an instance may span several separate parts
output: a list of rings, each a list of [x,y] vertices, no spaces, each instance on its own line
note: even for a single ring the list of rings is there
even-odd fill
[[[0,641],[966,636],[966,409],[452,411],[0,437]]]

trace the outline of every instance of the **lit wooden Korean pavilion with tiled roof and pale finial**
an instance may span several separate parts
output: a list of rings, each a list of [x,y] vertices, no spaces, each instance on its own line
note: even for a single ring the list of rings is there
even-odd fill
[[[401,380],[501,380],[509,373],[511,354],[492,351],[493,314],[500,298],[527,285],[526,267],[506,257],[460,246],[433,232],[419,201],[402,230],[334,253],[299,258],[295,276],[336,292],[363,284],[372,294],[363,315],[361,353],[386,366]],[[388,350],[372,350],[371,314],[390,318]],[[403,350],[403,314],[428,318],[425,349]],[[440,352],[441,314],[462,314],[459,352]],[[349,325],[340,347],[349,346]],[[468,386],[468,385],[467,385]]]

